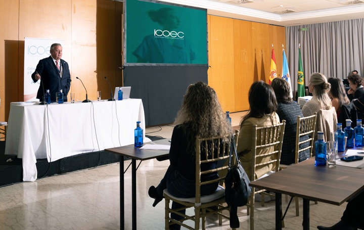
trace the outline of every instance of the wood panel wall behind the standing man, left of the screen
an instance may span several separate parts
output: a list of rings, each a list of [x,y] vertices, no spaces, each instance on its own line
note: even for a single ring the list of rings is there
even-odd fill
[[[122,86],[122,3],[110,0],[0,0],[0,121],[10,103],[23,101],[24,37],[63,39],[76,100],[110,98]],[[98,32],[97,32],[98,31]],[[35,67],[35,66],[34,66]],[[31,79],[30,79],[31,80]],[[70,97],[70,96],[68,96]]]

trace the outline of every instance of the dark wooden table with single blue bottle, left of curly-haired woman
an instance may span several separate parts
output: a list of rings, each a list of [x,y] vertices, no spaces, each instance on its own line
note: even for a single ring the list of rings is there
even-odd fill
[[[170,145],[169,139],[155,141],[155,144]],[[148,144],[148,143],[145,143]],[[167,157],[166,150],[145,150],[134,148],[134,145],[105,149],[110,153],[120,156],[120,229],[124,230],[124,157],[131,158],[131,215],[132,229],[136,230],[136,160],[150,160],[154,158]]]

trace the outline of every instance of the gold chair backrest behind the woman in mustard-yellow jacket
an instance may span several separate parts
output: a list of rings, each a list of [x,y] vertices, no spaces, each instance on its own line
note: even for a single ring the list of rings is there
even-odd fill
[[[285,126],[286,120],[277,125],[253,126],[251,181],[255,180],[256,167],[267,168],[265,173],[268,173],[270,168],[272,171],[279,171]]]

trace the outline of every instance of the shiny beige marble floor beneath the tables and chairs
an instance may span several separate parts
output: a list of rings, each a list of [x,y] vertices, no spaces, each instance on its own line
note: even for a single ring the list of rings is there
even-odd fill
[[[232,123],[238,125],[243,113],[233,113]],[[172,125],[150,127],[148,135],[169,138]],[[130,161],[125,161],[125,168]],[[139,163],[139,162],[138,162]],[[152,207],[148,188],[158,185],[168,167],[168,161],[143,161],[137,171],[138,229],[164,229],[164,201]],[[297,181],[298,182],[298,181]],[[289,197],[283,195],[283,208]],[[287,212],[284,229],[302,229],[302,200],[300,216],[295,216],[294,200]],[[346,203],[341,206],[310,202],[310,229],[317,225],[336,223]],[[275,202],[262,207],[255,204],[255,229],[275,229]],[[119,164],[77,171],[22,182],[0,188],[0,229],[120,229]],[[131,171],[125,173],[125,229],[131,229]],[[188,210],[193,212],[193,210]],[[250,229],[246,207],[238,209],[239,229]],[[192,222],[186,221],[190,226]],[[229,222],[219,226],[217,216],[207,219],[207,229],[230,229]],[[184,228],[182,228],[184,229]]]

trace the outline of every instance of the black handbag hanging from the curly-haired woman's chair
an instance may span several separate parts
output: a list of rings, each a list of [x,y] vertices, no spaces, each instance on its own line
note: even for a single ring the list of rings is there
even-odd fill
[[[234,151],[237,164],[231,165],[232,152]],[[249,186],[250,180],[243,166],[240,164],[236,151],[234,139],[230,145],[229,169],[225,178],[225,200],[230,205],[230,227],[239,228],[238,207],[248,203],[252,188]]]

